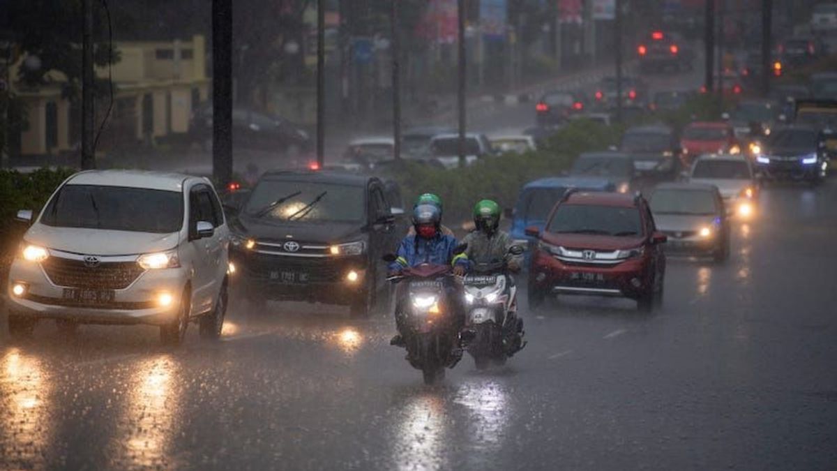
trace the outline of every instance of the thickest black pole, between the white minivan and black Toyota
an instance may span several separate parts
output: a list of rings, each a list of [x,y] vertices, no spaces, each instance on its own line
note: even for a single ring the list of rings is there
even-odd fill
[[[233,179],[233,0],[212,2],[213,178]]]

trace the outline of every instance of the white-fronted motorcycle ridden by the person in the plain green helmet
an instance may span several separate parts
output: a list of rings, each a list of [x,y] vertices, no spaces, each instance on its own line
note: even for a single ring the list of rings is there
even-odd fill
[[[523,249],[512,246],[511,255]],[[463,280],[465,292],[465,331],[472,338],[468,353],[477,370],[490,364],[505,365],[523,347],[523,319],[515,313],[517,287],[513,285],[506,261],[475,263]]]

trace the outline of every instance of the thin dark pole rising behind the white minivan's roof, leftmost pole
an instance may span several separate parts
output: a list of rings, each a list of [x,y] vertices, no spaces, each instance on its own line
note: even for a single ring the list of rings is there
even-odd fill
[[[93,0],[83,0],[81,33],[81,169],[96,168],[93,148]]]

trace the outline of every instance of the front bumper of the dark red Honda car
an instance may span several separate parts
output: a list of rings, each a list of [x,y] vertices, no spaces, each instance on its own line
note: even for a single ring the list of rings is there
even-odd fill
[[[532,254],[529,282],[547,292],[636,299],[650,289],[648,267],[645,257],[612,267],[567,264],[539,250]]]

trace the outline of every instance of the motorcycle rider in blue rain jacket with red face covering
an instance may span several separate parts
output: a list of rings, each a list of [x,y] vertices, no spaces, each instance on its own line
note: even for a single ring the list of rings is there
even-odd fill
[[[453,235],[442,233],[442,211],[439,206],[429,203],[417,204],[413,209],[413,230],[415,234],[407,235],[401,241],[396,253],[396,260],[389,264],[389,276],[401,273],[406,267],[415,267],[422,263],[434,263],[438,265],[451,264],[454,267],[454,274],[463,276],[468,271],[468,256],[464,253],[454,254],[454,249],[459,245]],[[454,297],[456,298],[456,297]],[[457,317],[464,321],[465,313],[461,308]],[[395,322],[398,332],[402,331],[402,309],[396,307]],[[396,334],[390,344],[403,346],[401,334]]]

